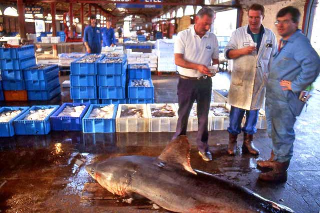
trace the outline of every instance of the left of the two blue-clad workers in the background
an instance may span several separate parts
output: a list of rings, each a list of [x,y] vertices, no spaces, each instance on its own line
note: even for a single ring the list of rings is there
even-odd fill
[[[90,25],[84,29],[83,42],[87,53],[101,53],[101,31],[96,27],[95,15],[90,17]]]

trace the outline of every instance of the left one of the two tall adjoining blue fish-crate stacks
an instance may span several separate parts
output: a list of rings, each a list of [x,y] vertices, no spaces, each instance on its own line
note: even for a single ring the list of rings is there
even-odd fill
[[[97,61],[103,57],[103,54],[86,54],[71,62],[70,96],[73,103],[99,103],[96,84]]]

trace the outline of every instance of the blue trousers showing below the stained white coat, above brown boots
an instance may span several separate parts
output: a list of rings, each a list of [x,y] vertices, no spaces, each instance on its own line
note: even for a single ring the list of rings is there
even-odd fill
[[[234,106],[231,106],[228,132],[232,135],[238,135],[241,133],[241,121],[245,113],[245,123],[242,127],[242,131],[253,135],[256,133],[255,125],[258,121],[259,110],[244,110]]]

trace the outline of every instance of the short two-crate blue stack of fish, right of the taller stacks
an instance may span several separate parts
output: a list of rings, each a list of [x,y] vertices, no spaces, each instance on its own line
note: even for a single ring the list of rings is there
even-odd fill
[[[154,86],[147,64],[128,65],[128,103],[154,103]]]

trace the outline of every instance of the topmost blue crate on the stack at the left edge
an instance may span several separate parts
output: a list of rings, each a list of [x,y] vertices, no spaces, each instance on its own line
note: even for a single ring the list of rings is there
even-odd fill
[[[0,48],[1,59],[23,59],[34,56],[34,45],[25,45],[19,48]]]

